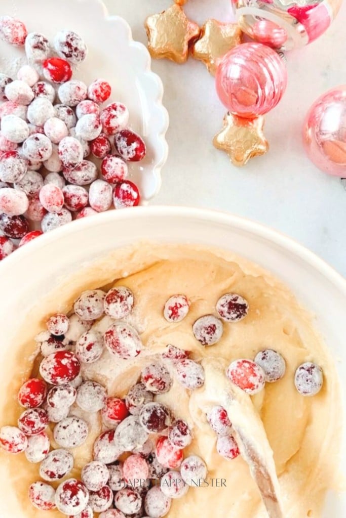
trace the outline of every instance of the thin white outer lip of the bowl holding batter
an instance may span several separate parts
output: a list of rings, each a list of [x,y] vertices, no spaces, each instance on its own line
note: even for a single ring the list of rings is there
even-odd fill
[[[114,222],[117,224],[123,220],[134,219],[142,220],[146,217],[178,217],[178,218],[193,218],[197,220],[207,220],[212,223],[223,224],[226,226],[239,228],[242,231],[256,234],[262,239],[269,240],[275,244],[278,244],[281,248],[286,249],[288,252],[300,257],[303,261],[319,271],[324,277],[326,277],[332,284],[346,298],[346,278],[344,278],[334,267],[330,266],[320,256],[300,244],[298,241],[289,237],[280,231],[273,229],[267,225],[252,221],[250,219],[232,214],[229,212],[222,212],[219,210],[201,209],[194,207],[184,206],[147,206],[147,207],[131,207],[130,209],[124,210],[111,210],[97,215],[90,216],[88,218],[81,218],[79,220],[72,221],[67,225],[61,226],[54,229],[51,232],[39,236],[38,239],[34,239],[25,246],[20,247],[15,253],[11,253],[5,260],[0,262],[0,277],[6,275],[6,272],[10,273],[12,268],[16,265],[20,267],[25,264],[25,258],[30,256],[33,252],[43,250],[45,247],[57,239],[63,238],[65,235],[74,234],[81,232],[84,229],[90,228],[95,225],[102,225],[104,223]]]

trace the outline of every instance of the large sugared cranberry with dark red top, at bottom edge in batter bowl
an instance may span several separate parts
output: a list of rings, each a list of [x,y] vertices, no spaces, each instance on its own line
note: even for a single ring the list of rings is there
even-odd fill
[[[89,491],[79,480],[68,479],[58,486],[55,500],[61,513],[75,516],[87,507]]]

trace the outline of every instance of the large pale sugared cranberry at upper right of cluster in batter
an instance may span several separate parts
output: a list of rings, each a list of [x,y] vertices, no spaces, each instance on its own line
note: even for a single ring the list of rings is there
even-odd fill
[[[123,359],[135,358],[142,351],[142,340],[130,324],[115,322],[104,334],[108,351]]]

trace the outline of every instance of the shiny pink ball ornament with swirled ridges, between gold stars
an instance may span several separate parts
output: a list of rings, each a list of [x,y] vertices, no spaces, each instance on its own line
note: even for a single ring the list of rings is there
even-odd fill
[[[216,71],[216,92],[226,108],[248,119],[276,106],[287,85],[284,62],[270,47],[244,43],[230,50]]]

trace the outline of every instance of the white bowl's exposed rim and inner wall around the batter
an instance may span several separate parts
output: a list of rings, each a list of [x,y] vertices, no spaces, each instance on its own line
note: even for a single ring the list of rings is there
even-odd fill
[[[226,213],[179,207],[139,207],[74,221],[26,244],[0,263],[0,366],[6,344],[27,310],[47,295],[47,286],[53,290],[62,277],[78,272],[86,263],[141,240],[222,248],[272,272],[315,314],[315,326],[334,353],[340,379],[345,379],[346,280],[319,257],[270,228]],[[342,391],[345,407],[344,382]],[[344,444],[340,463],[346,477],[345,450]],[[346,495],[328,495],[323,518],[345,515]]]

